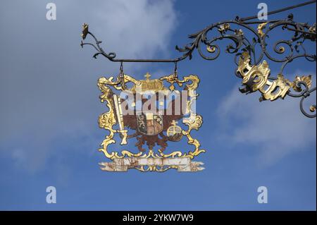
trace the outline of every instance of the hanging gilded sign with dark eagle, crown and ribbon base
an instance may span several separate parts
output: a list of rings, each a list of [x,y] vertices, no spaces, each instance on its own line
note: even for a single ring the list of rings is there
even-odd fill
[[[198,85],[197,75],[180,80],[176,71],[158,79],[151,79],[147,73],[144,80],[137,80],[123,73],[122,64],[116,80],[99,78],[100,99],[108,107],[108,111],[99,116],[99,127],[108,130],[99,151],[112,160],[101,162],[101,170],[203,170],[202,162],[192,162],[205,152],[191,135],[202,123],[202,117],[195,111]],[[137,152],[111,150],[118,149],[116,142],[124,146],[130,140],[134,140]],[[181,140],[192,146],[191,150],[168,150],[168,142]]]

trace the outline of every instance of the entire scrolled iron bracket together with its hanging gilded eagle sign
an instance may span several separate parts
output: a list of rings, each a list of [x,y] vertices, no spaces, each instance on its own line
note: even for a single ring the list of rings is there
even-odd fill
[[[302,4],[281,8],[276,11],[268,12],[268,15],[280,13],[293,8],[306,6],[316,3],[307,1]],[[316,86],[312,87],[312,75],[297,75],[294,80],[287,79],[285,67],[294,60],[305,59],[306,61],[316,62],[316,47],[313,53],[311,49],[305,48],[306,42],[316,44],[316,23],[297,23],[294,21],[293,14],[280,20],[255,20],[257,16],[246,18],[236,17],[234,20],[225,20],[219,23],[213,23],[208,27],[189,35],[192,42],[185,47],[176,46],[175,49],[182,53],[175,59],[117,59],[115,52],[106,53],[101,47],[101,41],[89,32],[87,24],[82,25],[81,46],[90,45],[96,49],[94,58],[101,55],[109,61],[120,63],[120,72],[118,77],[99,78],[98,87],[101,90],[101,102],[105,102],[109,111],[99,116],[99,127],[108,131],[108,135],[101,142],[100,152],[112,162],[101,162],[101,169],[104,171],[128,171],[128,169],[137,169],[139,171],[158,171],[163,172],[169,169],[178,171],[201,171],[202,162],[193,162],[192,159],[199,154],[206,152],[201,149],[199,140],[191,135],[192,130],[199,130],[203,123],[203,118],[196,111],[192,110],[192,105],[198,97],[196,93],[199,85],[197,75],[187,75],[178,78],[178,62],[185,59],[192,59],[192,53],[197,50],[199,55],[206,60],[213,61],[220,55],[220,47],[217,44],[221,40],[229,40],[231,44],[225,47],[225,51],[233,54],[234,62],[237,66],[235,75],[242,79],[240,92],[249,94],[260,92],[260,102],[265,100],[274,101],[284,99],[285,97],[300,98],[300,109],[304,116],[309,118],[316,117],[316,104],[311,104],[309,111],[304,107],[304,100],[316,92]],[[290,39],[280,39],[268,48],[272,30],[279,30],[285,38],[285,33],[290,32]],[[213,33],[211,37],[210,33]],[[249,38],[251,33],[252,37]],[[87,36],[94,40],[84,42]],[[269,51],[269,49],[271,51]],[[275,55],[273,55],[273,54]],[[263,58],[266,58],[263,59]],[[277,75],[271,75],[268,61],[280,63],[280,71]],[[124,62],[139,63],[175,63],[174,72],[170,75],[164,75],[161,78],[150,79],[149,73],[144,80],[137,80],[123,72]],[[167,86],[166,86],[167,84]],[[132,85],[132,87],[131,87]],[[152,96],[168,96],[171,92],[185,92],[186,97],[179,96],[180,102],[185,99],[185,114],[166,114],[171,109],[175,112],[175,100],[168,107],[158,109],[158,111],[139,111],[137,109],[137,95],[144,92],[151,92]],[[122,98],[116,94],[120,92],[129,92],[130,97]],[[166,94],[168,93],[168,94]],[[131,102],[130,102],[131,100]],[[146,101],[145,101],[146,102]],[[143,100],[139,101],[143,106]],[[159,101],[159,104],[164,104]],[[130,113],[123,114],[123,109],[128,106]],[[177,125],[177,123],[179,123]],[[129,134],[130,131],[134,133]],[[122,150],[121,152],[109,151],[109,146],[116,143],[114,136],[118,134],[120,145],[127,145],[128,140],[136,138],[138,153]],[[167,142],[178,142],[182,138],[194,150],[181,152],[180,150],[165,153],[168,146]],[[149,151],[144,149],[147,145]],[[154,150],[154,147],[159,149]]]

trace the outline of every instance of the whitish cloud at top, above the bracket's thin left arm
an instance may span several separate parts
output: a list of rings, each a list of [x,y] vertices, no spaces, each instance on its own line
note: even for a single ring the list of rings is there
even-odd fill
[[[105,46],[116,49],[118,57],[147,59],[167,50],[177,25],[173,1],[119,0],[102,6],[96,13],[102,25],[91,28],[103,34]]]

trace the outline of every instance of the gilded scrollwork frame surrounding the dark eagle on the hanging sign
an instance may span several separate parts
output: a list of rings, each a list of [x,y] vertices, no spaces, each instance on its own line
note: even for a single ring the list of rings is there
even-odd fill
[[[124,83],[133,83],[138,84],[140,81],[136,80],[135,78],[132,78],[130,75],[123,75]],[[163,151],[158,150],[158,153],[155,153],[153,150],[149,150],[149,152],[138,152],[133,153],[128,150],[122,150],[121,152],[109,152],[108,146],[111,144],[114,144],[116,140],[114,140],[115,133],[118,133],[118,130],[113,129],[113,126],[118,122],[116,121],[115,113],[114,113],[114,104],[112,95],[116,95],[111,90],[111,87],[113,87],[116,90],[124,90],[125,87],[122,86],[122,83],[117,81],[113,81],[113,77],[110,78],[99,78],[98,80],[98,87],[99,90],[101,90],[102,94],[100,95],[101,102],[106,102],[106,106],[108,107],[108,111],[101,114],[99,116],[99,127],[104,128],[105,130],[108,130],[108,135],[106,135],[106,138],[101,142],[101,148],[99,148],[99,152],[103,152],[106,158],[108,159],[123,159],[124,157],[140,157],[140,158],[168,158],[168,157],[189,157],[190,159],[194,159],[194,157],[197,157],[202,152],[206,152],[205,150],[200,149],[200,143],[197,139],[192,138],[191,131],[198,130],[201,127],[201,124],[203,123],[202,117],[198,114],[196,114],[195,111],[192,110],[192,103],[197,100],[197,87],[199,85],[199,78],[197,75],[188,75],[183,78],[183,80],[179,80],[178,76],[175,76],[175,74],[163,76],[159,78],[158,80],[166,81],[167,83],[170,83],[170,91],[175,90],[175,84],[182,86],[183,84],[187,87],[188,97],[189,101],[187,101],[187,110],[189,111],[189,116],[182,119],[182,123],[187,126],[187,130],[182,130],[182,135],[184,135],[187,138],[187,143],[189,145],[194,146],[194,151],[188,151],[188,152],[181,152],[181,151],[174,151],[169,154],[164,154]],[[138,167],[140,169],[140,167]],[[173,166],[170,166],[169,169],[173,168]],[[142,170],[142,169],[141,169]],[[154,168],[151,168],[150,170],[154,170]],[[163,170],[166,171],[166,168]]]

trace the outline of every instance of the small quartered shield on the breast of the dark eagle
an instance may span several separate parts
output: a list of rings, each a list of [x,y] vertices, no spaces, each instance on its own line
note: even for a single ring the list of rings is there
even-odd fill
[[[151,112],[137,114],[137,130],[144,135],[157,135],[163,130],[163,116]]]

